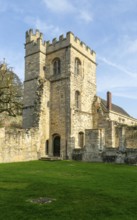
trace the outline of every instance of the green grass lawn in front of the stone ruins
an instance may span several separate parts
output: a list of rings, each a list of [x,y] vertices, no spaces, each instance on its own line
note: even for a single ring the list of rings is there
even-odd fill
[[[37,204],[31,200],[53,199]],[[0,220],[137,219],[137,167],[72,161],[0,164]]]

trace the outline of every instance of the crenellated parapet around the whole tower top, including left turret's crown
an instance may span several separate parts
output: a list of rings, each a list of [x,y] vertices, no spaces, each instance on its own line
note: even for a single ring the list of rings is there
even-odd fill
[[[94,62],[96,59],[96,53],[91,50],[90,47],[88,47],[78,37],[74,36],[72,32],[67,32],[65,37],[63,35],[60,35],[59,39],[54,38],[52,42],[50,42],[43,41],[43,34],[39,30],[33,32],[33,30],[30,29],[26,32],[26,45],[28,44],[30,50],[32,50],[33,48],[33,50],[36,51],[40,48],[40,50],[42,50],[43,52],[46,51],[46,53],[52,53],[54,51],[60,50],[61,48],[72,46],[78,52],[89,57],[89,59],[92,59]]]

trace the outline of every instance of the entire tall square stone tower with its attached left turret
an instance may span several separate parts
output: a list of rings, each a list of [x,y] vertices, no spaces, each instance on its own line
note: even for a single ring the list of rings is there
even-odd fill
[[[39,127],[42,155],[71,158],[84,147],[85,129],[93,128],[95,52],[71,32],[43,43],[42,34],[29,31],[25,48],[24,127]]]

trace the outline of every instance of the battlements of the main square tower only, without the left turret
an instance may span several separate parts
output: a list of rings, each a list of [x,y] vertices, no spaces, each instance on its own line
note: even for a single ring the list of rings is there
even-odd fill
[[[67,47],[71,45],[78,51],[82,52],[84,55],[91,58],[95,61],[96,54],[93,50],[90,49],[83,41],[81,41],[78,37],[74,36],[72,32],[67,32],[66,36],[59,36],[59,39],[54,38],[52,42],[47,41],[47,53],[53,52],[63,47]]]

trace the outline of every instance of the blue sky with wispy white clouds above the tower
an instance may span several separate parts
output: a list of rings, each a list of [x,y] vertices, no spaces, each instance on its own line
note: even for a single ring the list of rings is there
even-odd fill
[[[72,31],[97,55],[97,94],[137,118],[137,0],[0,0],[0,60],[24,79],[25,32]]]

